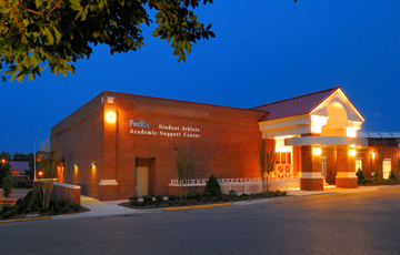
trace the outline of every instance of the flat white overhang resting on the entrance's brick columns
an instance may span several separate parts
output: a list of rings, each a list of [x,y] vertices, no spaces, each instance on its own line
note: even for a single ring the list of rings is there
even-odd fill
[[[354,147],[367,147],[368,140],[347,136],[303,136],[284,139],[284,145],[349,145]]]

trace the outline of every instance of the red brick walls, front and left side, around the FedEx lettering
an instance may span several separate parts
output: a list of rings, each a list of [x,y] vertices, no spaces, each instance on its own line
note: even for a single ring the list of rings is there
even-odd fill
[[[113,103],[101,103],[112,95]],[[104,110],[106,109],[106,110]],[[117,123],[104,124],[104,112],[117,112]],[[134,195],[136,161],[149,160],[149,193],[168,194],[168,184],[177,178],[176,147],[194,147],[199,157],[193,178],[259,177],[258,143],[261,132],[251,110],[189,103],[148,96],[104,92],[56,125],[51,133],[62,143],[64,180],[81,185],[82,194],[101,200],[128,198]],[[158,135],[130,134],[130,120],[146,121]],[[159,124],[193,126],[194,137],[160,135]],[[136,130],[141,130],[136,128]],[[166,131],[164,132],[176,132]],[[96,162],[96,169],[90,163]],[[78,164],[78,171],[73,164]],[[117,180],[117,186],[100,180]]]

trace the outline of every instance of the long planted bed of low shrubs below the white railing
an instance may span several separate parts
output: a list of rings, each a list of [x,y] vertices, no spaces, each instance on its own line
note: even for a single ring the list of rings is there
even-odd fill
[[[186,197],[170,194],[166,200],[162,195],[151,196],[144,195],[142,198],[131,196],[129,202],[119,204],[128,208],[136,210],[152,210],[152,208],[168,208],[168,207],[184,207],[197,205],[214,205],[223,203],[232,203],[239,201],[252,201],[252,200],[266,200],[278,196],[286,196],[286,192],[269,191],[267,193],[252,193],[238,195],[234,191],[230,191],[229,194],[222,194],[213,196],[209,192],[193,193],[189,192]]]

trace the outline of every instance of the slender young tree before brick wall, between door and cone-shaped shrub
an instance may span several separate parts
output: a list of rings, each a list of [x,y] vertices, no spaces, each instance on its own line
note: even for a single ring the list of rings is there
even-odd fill
[[[183,196],[183,200],[186,200],[189,180],[193,177],[197,169],[198,159],[196,156],[194,147],[192,146],[179,145],[177,147],[177,152],[178,183],[181,195]]]

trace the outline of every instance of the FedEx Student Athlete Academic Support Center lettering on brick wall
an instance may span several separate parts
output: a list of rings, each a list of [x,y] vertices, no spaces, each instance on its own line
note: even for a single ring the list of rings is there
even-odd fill
[[[156,128],[150,125],[146,121],[130,120],[129,125],[131,128],[130,134],[139,135],[154,135],[164,137],[187,137],[187,139],[199,139],[200,129],[190,125],[164,125],[158,124]]]

